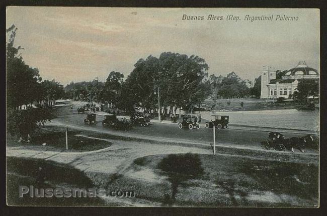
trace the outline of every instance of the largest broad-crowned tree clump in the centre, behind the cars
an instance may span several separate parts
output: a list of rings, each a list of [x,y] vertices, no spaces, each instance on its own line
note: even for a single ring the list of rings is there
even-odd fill
[[[160,107],[175,107],[175,112],[178,107],[201,103],[208,95],[205,85],[209,67],[198,56],[165,52],[159,58],[140,59],[134,67],[123,88],[123,95],[127,97],[123,104],[129,108],[141,105],[155,109],[154,91],[158,88]]]

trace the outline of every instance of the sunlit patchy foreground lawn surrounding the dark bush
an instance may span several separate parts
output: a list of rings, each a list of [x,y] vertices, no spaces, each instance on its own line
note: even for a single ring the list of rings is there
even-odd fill
[[[159,169],[167,155],[138,158],[108,187],[133,188],[136,198],[162,206],[316,207],[318,165],[200,154],[204,173]]]

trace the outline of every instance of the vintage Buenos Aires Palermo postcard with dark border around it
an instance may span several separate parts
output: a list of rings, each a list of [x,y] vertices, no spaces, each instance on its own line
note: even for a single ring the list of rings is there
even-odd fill
[[[319,207],[319,20],[7,7],[7,204]]]

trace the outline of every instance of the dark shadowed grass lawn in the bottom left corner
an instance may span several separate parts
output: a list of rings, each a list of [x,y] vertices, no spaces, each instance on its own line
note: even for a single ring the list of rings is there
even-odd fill
[[[38,167],[44,170],[45,183],[36,183]],[[51,161],[7,157],[7,203],[14,206],[105,206],[99,197],[19,197],[19,186],[34,188],[92,188],[93,182],[78,169]]]

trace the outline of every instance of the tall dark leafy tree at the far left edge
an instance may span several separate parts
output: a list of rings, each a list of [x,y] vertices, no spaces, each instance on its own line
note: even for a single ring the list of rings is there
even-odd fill
[[[51,119],[46,108],[32,108],[34,101],[43,95],[39,70],[31,68],[23,61],[23,48],[14,47],[16,31],[13,25],[7,29],[7,129],[11,135],[29,135],[45,121]]]

